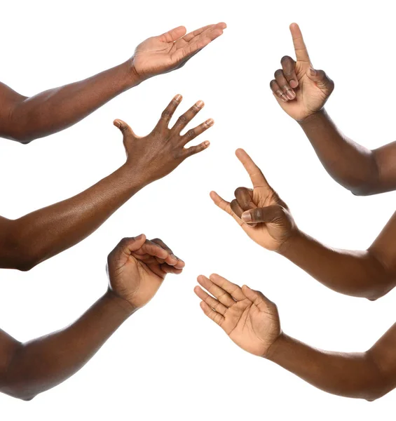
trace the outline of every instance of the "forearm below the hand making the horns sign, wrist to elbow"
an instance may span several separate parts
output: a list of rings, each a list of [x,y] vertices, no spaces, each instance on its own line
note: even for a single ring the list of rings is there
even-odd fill
[[[346,295],[375,300],[395,286],[395,276],[370,250],[329,248],[298,232],[280,254],[328,288]]]

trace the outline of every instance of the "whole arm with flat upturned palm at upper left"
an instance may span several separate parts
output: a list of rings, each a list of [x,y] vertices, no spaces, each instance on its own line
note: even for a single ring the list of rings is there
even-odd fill
[[[221,22],[186,34],[177,27],[146,39],[121,65],[30,98],[0,83],[0,137],[28,143],[72,126],[142,81],[184,66],[225,28]]]

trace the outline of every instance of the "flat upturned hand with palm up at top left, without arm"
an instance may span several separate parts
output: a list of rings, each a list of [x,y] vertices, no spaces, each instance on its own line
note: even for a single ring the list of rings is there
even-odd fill
[[[207,25],[186,34],[185,27],[177,27],[159,36],[153,36],[137,46],[130,59],[137,79],[148,79],[157,74],[172,72],[223,34],[227,25]]]

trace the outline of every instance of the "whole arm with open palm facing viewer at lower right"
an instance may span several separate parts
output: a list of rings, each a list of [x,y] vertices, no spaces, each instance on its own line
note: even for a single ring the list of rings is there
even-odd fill
[[[396,387],[396,324],[367,352],[322,351],[283,333],[276,305],[261,292],[216,274],[198,283],[203,312],[245,351],[339,396],[374,401]]]

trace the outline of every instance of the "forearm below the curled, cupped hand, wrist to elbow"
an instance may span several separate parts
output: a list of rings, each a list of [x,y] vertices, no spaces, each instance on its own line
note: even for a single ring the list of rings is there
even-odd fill
[[[132,314],[128,302],[106,293],[69,327],[21,344],[1,392],[29,400],[80,370]]]

